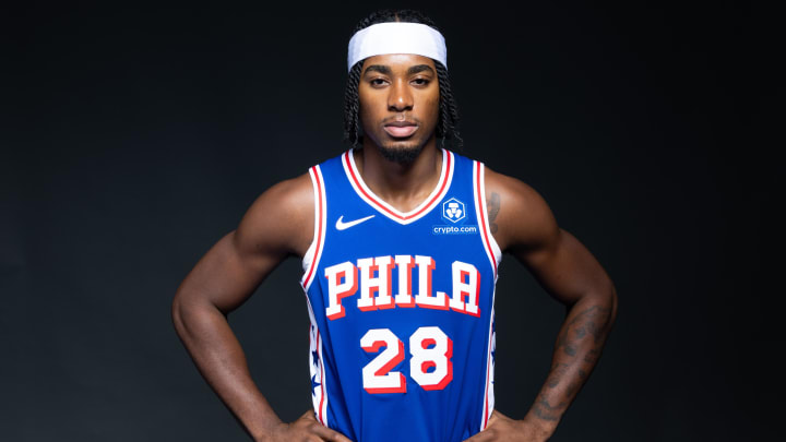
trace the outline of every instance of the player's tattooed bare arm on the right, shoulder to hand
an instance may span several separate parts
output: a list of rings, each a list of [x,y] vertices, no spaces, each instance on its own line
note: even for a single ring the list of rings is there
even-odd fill
[[[534,189],[487,169],[486,193],[490,227],[500,249],[524,264],[567,309],[551,370],[532,408],[517,422],[499,417],[531,434],[531,440],[546,440],[600,356],[617,314],[617,291],[592,253],[559,228]]]

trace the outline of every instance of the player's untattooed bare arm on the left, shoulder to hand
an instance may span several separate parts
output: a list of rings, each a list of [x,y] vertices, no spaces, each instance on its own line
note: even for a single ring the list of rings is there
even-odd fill
[[[200,373],[257,441],[289,440],[293,430],[324,440],[340,434],[313,413],[286,425],[251,379],[240,344],[227,322],[284,259],[302,256],[313,237],[313,191],[308,175],[264,192],[237,230],[221,239],[178,288],[172,322]]]

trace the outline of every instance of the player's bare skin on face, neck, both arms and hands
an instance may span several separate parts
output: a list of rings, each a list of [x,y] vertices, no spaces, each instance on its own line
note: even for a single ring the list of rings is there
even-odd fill
[[[442,164],[434,130],[439,83],[433,61],[415,55],[365,60],[358,85],[362,150],[355,160],[371,190],[401,212],[433,190]],[[415,121],[409,136],[385,124]],[[386,159],[382,150],[414,150],[409,164]],[[511,419],[493,410],[486,430],[467,439],[544,441],[556,430],[597,362],[617,312],[617,294],[600,264],[571,234],[558,227],[543,198],[524,182],[486,169],[491,231],[567,308],[551,371],[527,415]],[[270,214],[276,214],[270,216]],[[182,282],[172,302],[181,341],[216,394],[255,441],[348,441],[321,425],[312,409],[282,422],[253,383],[227,314],[243,303],[286,258],[302,259],[313,239],[313,190],[308,174],[262,193],[235,231],[221,239]]]

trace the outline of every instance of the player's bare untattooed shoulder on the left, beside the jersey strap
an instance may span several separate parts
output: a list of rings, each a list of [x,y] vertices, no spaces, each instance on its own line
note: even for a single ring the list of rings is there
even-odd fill
[[[237,250],[302,256],[313,237],[313,205],[308,174],[274,184],[243,215],[235,234]]]

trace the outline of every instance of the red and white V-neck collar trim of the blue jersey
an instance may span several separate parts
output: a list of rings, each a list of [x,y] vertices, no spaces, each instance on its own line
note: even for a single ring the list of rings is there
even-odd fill
[[[344,171],[346,172],[347,179],[349,180],[353,189],[355,189],[355,192],[357,192],[358,196],[374,207],[382,215],[398,224],[406,225],[422,218],[426,214],[431,212],[431,210],[439,204],[445,193],[448,193],[450,183],[453,180],[453,165],[455,163],[455,158],[453,157],[453,153],[442,150],[442,170],[440,171],[440,179],[437,182],[437,187],[433,189],[431,194],[422,203],[420,203],[420,205],[409,212],[400,212],[392,205],[384,202],[381,198],[377,196],[377,194],[374,194],[371,189],[366,186],[366,182],[364,182],[362,177],[355,165],[353,150],[348,150],[344,153],[344,155],[342,155],[342,163],[344,164]]]

